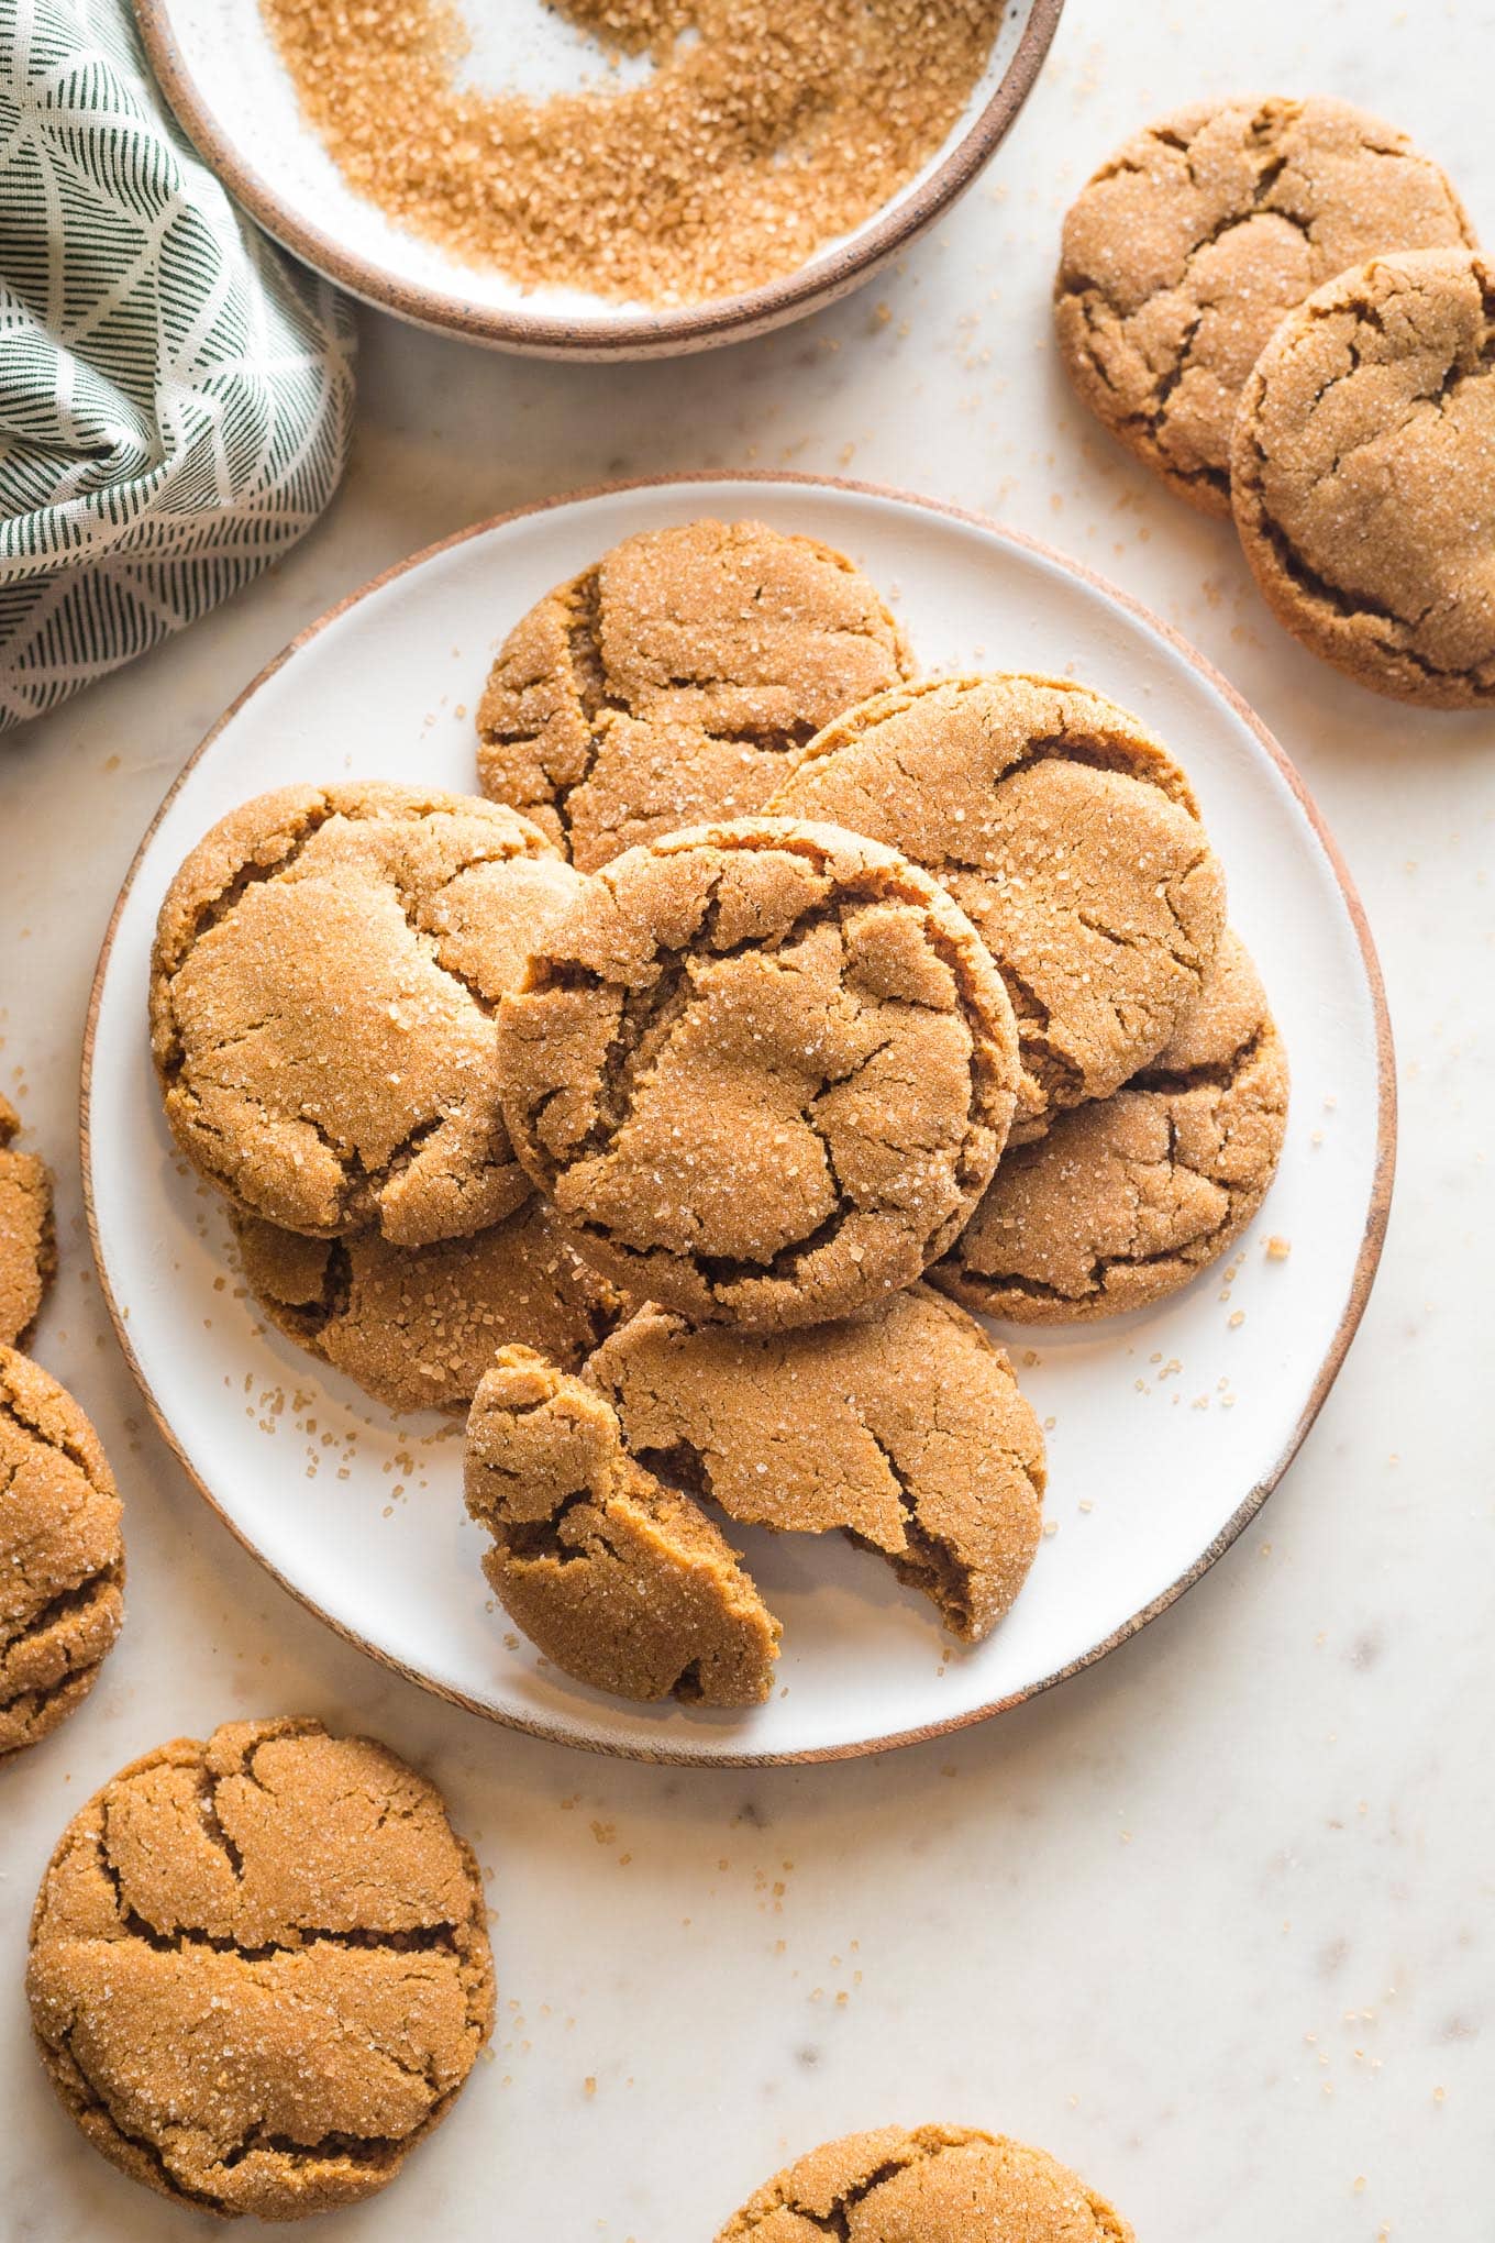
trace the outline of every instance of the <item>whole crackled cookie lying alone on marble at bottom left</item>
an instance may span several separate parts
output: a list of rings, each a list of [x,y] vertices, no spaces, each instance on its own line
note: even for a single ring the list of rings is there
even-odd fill
[[[220,2214],[327,2212],[394,2178],[493,2028],[482,1877],[383,1745],[226,1723],[72,1819],[27,1994],[58,2097],[121,2171]]]

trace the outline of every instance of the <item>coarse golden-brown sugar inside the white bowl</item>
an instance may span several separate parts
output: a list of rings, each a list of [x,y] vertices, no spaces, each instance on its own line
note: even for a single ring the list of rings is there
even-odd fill
[[[881,209],[1002,20],[1002,0],[556,0],[654,67],[529,99],[459,81],[448,0],[260,4],[307,123],[388,218],[524,287],[652,305],[778,280]]]

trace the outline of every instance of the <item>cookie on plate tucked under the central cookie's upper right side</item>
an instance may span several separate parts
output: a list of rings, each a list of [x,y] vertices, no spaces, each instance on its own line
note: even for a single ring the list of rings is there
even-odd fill
[[[1018,1012],[1013,1144],[1163,1047],[1224,926],[1183,772],[1062,677],[944,677],[849,709],[769,805],[834,819],[932,873]]]

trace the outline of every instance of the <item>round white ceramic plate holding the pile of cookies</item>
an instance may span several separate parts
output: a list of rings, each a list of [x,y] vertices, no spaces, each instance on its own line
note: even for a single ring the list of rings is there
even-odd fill
[[[513,619],[616,538],[699,514],[753,514],[854,554],[897,597],[928,671],[1071,671],[1136,709],[1188,765],[1293,1063],[1282,1171],[1231,1258],[1233,1285],[1217,1267],[1109,1323],[995,1328],[1051,1427],[1056,1523],[995,1635],[955,1649],[919,1595],[838,1536],[733,1530],[784,1622],[776,1693],[744,1716],[612,1702],[507,1631],[462,1510],[459,1427],[394,1424],[258,1328],[222,1283],[222,1202],[175,1157],[146,1045],[155,915],[215,819],[289,781],[471,790],[471,711]],[[108,1126],[90,1130],[92,1113]],[[977,1720],[1101,1658],[1199,1579],[1275,1485],[1349,1346],[1381,1252],[1392,1133],[1390,1030],[1361,908],[1291,765],[1231,689],[1058,554],[897,493],[791,478],[516,514],[312,626],[208,733],[141,843],[83,1065],[83,1175],[119,1337],[233,1532],[417,1682],[567,1743],[684,1761],[820,1759]],[[1269,1234],[1291,1240],[1287,1261],[1266,1256]]]

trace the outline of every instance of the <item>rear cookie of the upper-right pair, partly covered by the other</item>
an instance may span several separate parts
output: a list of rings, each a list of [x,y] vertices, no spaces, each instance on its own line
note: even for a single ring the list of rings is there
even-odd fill
[[[1177,493],[1231,511],[1231,424],[1273,327],[1378,249],[1473,244],[1437,164],[1347,101],[1163,117],[1065,220],[1058,341],[1085,404]]]

